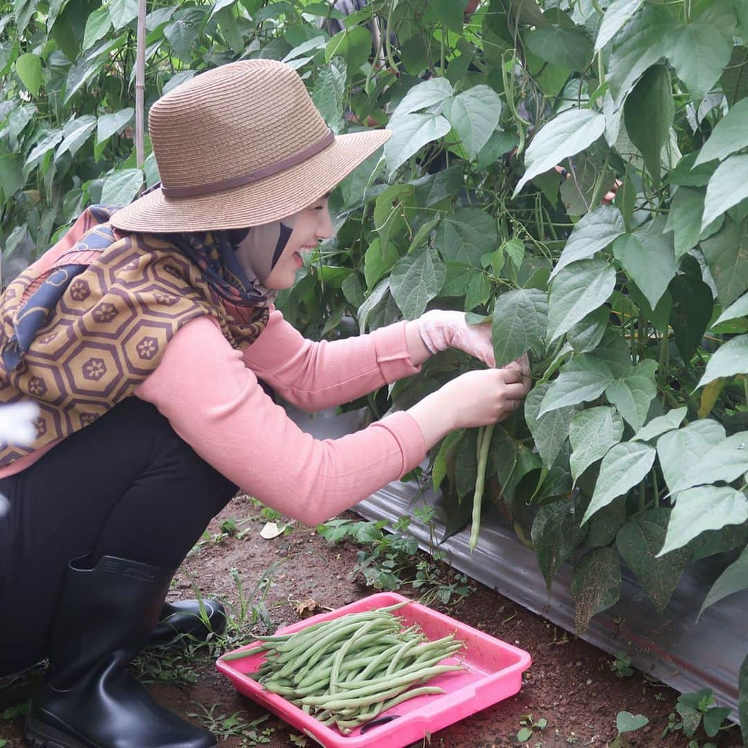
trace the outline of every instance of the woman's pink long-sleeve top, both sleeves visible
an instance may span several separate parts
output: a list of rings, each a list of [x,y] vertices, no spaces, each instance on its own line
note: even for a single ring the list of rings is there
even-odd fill
[[[215,320],[192,319],[168,343],[135,396],[153,402],[203,459],[284,515],[317,524],[418,465],[423,432],[405,412],[339,439],[306,434],[266,395],[263,379],[292,405],[318,411],[417,373],[405,322],[334,342],[306,340],[272,310],[260,337],[233,349]],[[0,470],[33,464],[54,443]]]

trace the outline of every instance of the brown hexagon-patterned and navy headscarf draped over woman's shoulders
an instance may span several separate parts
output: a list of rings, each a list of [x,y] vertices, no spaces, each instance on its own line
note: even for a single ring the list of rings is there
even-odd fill
[[[52,267],[34,263],[0,298],[0,404],[41,408],[34,444],[0,444],[0,467],[132,395],[191,319],[212,317],[236,348],[267,324],[266,289],[230,233],[127,233],[108,223],[115,210],[88,208],[52,248]]]

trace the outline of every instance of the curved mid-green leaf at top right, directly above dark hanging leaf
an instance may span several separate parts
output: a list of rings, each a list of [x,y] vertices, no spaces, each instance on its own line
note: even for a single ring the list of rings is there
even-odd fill
[[[666,56],[666,34],[673,28],[678,22],[666,7],[647,3],[616,34],[607,76],[616,108],[643,73]]]

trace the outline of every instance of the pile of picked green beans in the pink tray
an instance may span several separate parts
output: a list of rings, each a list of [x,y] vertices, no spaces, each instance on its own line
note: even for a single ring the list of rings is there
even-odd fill
[[[444,693],[423,684],[443,672],[464,669],[438,664],[462,648],[454,634],[429,641],[416,626],[402,628],[393,610],[408,602],[348,613],[294,634],[257,637],[258,646],[224,654],[223,659],[264,653],[263,664],[251,678],[349,735],[407,699]]]

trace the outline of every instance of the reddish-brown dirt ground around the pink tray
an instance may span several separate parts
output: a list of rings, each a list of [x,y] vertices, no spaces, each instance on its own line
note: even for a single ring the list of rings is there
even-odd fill
[[[343,516],[355,518],[350,513]],[[302,526],[294,527],[287,535],[263,539],[260,530],[265,519],[247,497],[237,497],[212,522],[209,532],[220,533],[221,521],[226,518],[240,521],[239,527],[244,531],[242,538],[230,536],[200,545],[177,572],[170,599],[191,597],[194,580],[204,595],[221,595],[236,604],[239,595],[231,570],[238,571],[246,594],[274,562],[280,563],[265,598],[274,628],[297,621],[296,607],[301,601],[314,601],[318,611],[328,610],[376,592],[364,586],[360,577],[358,580],[351,578],[356,561],[355,545],[330,545],[312,528]],[[634,748],[689,746],[689,739],[680,731],[663,736],[669,714],[675,711],[678,697],[675,691],[648,681],[637,671],[619,677],[610,667],[612,658],[609,655],[565,634],[497,592],[479,583],[474,586],[475,591],[459,604],[444,606],[436,602],[431,605],[527,650],[533,657],[533,665],[524,674],[516,696],[435,732],[430,744],[422,741],[413,744],[414,747],[516,746],[517,733],[523,726],[522,720],[527,721],[527,715],[532,715],[535,723],[546,722],[545,729],[533,729],[532,737],[524,743],[528,747],[610,746],[617,735],[616,714],[622,710],[645,715],[649,725],[628,733],[628,742],[620,745]],[[404,586],[399,592],[408,597],[419,596],[411,586]],[[257,625],[255,632],[265,633],[264,626]],[[197,669],[194,684],[183,684],[179,682],[183,680],[181,676],[193,670],[189,660],[183,662],[178,654],[164,657],[170,664],[160,673],[160,660],[153,657],[150,660],[151,678],[155,661],[156,678],[165,680],[151,684],[151,693],[166,707],[212,729],[222,747],[259,744],[270,748],[312,747],[312,741],[304,742],[304,738],[281,720],[267,716],[263,709],[236,693],[230,681],[216,672],[212,663],[203,663]],[[27,674],[12,683],[0,679],[0,746],[20,748],[23,745],[22,715],[13,717],[13,714],[28,699],[38,677]],[[692,748],[704,748],[710,740],[701,731],[696,738],[698,743],[691,744]],[[717,738],[711,738],[711,743],[720,748],[742,745],[735,728],[720,732]]]

